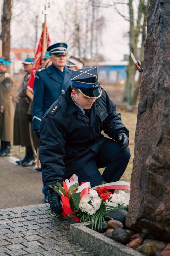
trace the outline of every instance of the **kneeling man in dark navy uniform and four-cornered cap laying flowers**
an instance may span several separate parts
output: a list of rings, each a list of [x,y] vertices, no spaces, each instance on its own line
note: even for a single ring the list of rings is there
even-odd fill
[[[80,183],[91,182],[92,187],[119,181],[130,158],[129,131],[100,87],[97,68],[72,70],[71,81],[40,125],[39,158],[46,184],[62,184],[74,173]],[[103,167],[101,175],[98,168]],[[53,189],[48,202],[52,212],[61,213],[60,195]]]

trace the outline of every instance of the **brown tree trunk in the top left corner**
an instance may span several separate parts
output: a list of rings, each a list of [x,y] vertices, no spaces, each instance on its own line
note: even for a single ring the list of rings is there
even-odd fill
[[[2,32],[0,37],[3,40],[2,54],[3,56],[10,58],[10,21],[11,21],[11,0],[3,1],[3,14],[2,14]]]

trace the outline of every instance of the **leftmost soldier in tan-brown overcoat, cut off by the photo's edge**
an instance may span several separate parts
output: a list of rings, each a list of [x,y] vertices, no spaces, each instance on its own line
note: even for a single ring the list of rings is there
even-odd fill
[[[14,106],[12,102],[13,80],[7,71],[10,61],[0,57],[0,156],[8,156],[13,140]]]

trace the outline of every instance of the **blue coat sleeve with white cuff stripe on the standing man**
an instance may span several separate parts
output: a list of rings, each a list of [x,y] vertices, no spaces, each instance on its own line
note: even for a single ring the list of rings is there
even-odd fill
[[[35,74],[34,80],[34,97],[33,97],[33,130],[40,129],[40,122],[44,115],[44,83],[38,73]]]

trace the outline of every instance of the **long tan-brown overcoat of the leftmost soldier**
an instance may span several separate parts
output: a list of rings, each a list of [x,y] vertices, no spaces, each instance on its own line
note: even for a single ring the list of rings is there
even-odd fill
[[[14,105],[12,102],[13,79],[9,73],[0,74],[0,140],[13,140]]]

